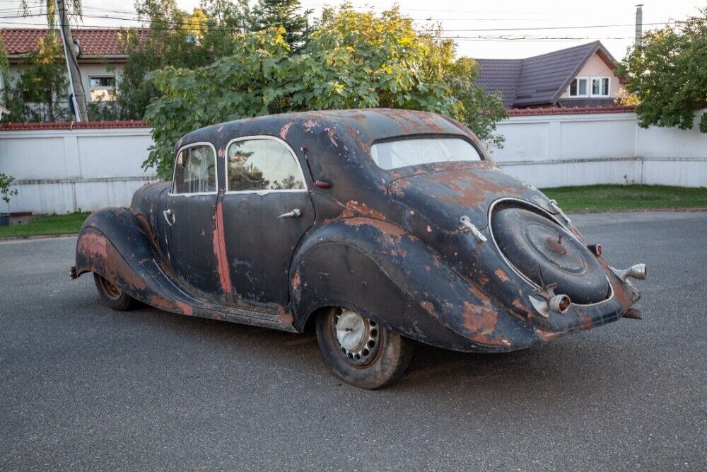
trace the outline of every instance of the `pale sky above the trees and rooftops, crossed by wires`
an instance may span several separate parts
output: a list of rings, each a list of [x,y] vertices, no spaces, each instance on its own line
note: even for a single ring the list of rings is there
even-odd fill
[[[27,0],[30,6],[45,0]],[[134,4],[121,0],[83,0],[84,27],[136,26]],[[251,4],[255,3],[250,1]],[[457,56],[478,58],[521,58],[601,40],[614,57],[621,59],[633,42],[638,0],[352,0],[358,10],[382,11],[398,4],[420,28],[429,20],[439,22],[445,36],[457,44]],[[0,27],[39,28],[44,18],[17,18],[20,0],[0,0]],[[191,10],[199,0],[177,0]],[[339,1],[303,0],[312,16],[325,5]],[[431,6],[433,5],[433,6]],[[33,11],[36,11],[36,7]],[[644,30],[660,28],[668,21],[684,20],[707,8],[706,0],[643,0]],[[124,19],[105,18],[112,16]]]

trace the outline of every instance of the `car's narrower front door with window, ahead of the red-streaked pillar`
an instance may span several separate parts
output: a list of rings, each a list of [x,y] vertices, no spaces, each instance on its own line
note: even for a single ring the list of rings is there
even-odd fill
[[[216,227],[217,162],[209,142],[188,144],[175,158],[172,189],[163,212],[167,254],[173,270],[202,299],[223,297],[219,284]]]

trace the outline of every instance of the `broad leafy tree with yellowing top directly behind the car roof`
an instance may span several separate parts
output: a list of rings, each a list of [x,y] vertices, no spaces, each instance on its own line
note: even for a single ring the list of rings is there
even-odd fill
[[[155,76],[159,96],[146,120],[154,146],[144,166],[171,175],[173,146],[199,127],[241,117],[341,108],[406,108],[455,117],[489,144],[505,117],[501,98],[474,84],[473,59],[454,45],[419,35],[398,8],[380,14],[325,8],[303,49],[293,54],[284,28],[238,35],[233,54],[198,69]]]

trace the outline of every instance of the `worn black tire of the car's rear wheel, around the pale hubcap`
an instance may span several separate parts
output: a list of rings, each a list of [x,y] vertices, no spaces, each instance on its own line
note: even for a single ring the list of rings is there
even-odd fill
[[[368,340],[368,345],[373,345],[373,349],[366,352],[368,345],[364,345],[362,352],[366,355],[359,355],[356,359],[356,355],[351,355],[351,351],[346,351],[339,343],[335,331],[337,319],[344,312],[356,313],[334,308],[320,313],[315,320],[317,341],[325,361],[337,376],[351,385],[375,389],[391,384],[407,369],[413,353],[412,344],[401,335],[356,313],[365,321],[366,329],[375,334],[375,339]]]

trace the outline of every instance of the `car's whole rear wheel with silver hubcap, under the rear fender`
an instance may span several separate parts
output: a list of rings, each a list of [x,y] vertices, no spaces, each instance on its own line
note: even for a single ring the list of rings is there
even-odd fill
[[[322,355],[341,379],[361,388],[380,388],[407,368],[412,345],[356,311],[335,308],[316,319]]]

